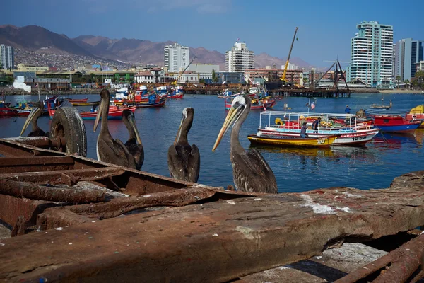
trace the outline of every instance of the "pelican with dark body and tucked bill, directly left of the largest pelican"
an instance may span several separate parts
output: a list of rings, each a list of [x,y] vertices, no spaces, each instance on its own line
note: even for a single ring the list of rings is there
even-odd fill
[[[199,179],[200,154],[195,144],[190,146],[187,134],[193,124],[194,109],[184,108],[175,142],[168,149],[171,177],[196,183]]]

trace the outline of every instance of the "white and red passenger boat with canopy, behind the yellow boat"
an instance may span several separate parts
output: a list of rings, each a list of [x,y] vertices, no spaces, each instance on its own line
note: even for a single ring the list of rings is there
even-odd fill
[[[263,111],[257,136],[300,137],[300,130],[306,122],[309,137],[322,138],[338,134],[333,146],[355,146],[366,144],[378,134],[379,129],[373,128],[371,121],[358,121],[351,114]],[[316,128],[312,128],[315,125]]]

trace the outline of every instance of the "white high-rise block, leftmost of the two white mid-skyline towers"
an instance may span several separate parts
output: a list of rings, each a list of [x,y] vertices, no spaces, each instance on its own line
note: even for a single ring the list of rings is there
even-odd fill
[[[174,43],[174,45],[165,45],[164,63],[168,71],[171,73],[182,71],[189,65],[189,62],[189,47],[181,46],[178,43]]]

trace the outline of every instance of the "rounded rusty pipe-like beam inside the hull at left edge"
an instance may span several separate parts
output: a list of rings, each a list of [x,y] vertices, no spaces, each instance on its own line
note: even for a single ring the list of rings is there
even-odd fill
[[[32,200],[47,200],[83,204],[105,201],[105,193],[99,190],[78,190],[73,187],[45,187],[28,182],[0,179],[0,193]]]

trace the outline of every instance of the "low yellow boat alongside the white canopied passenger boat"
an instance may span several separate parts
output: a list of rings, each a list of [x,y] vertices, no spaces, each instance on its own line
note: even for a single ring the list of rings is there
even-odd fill
[[[336,141],[338,135],[334,134],[332,136],[326,137],[287,137],[287,136],[258,136],[256,134],[249,134],[247,139],[252,144],[271,144],[278,146],[307,146],[307,147],[330,147],[331,144]]]

